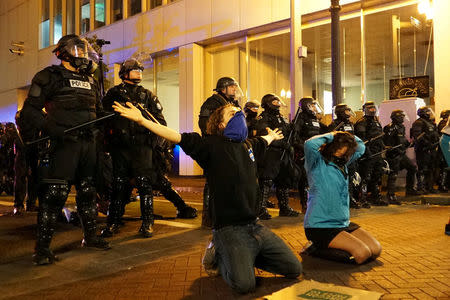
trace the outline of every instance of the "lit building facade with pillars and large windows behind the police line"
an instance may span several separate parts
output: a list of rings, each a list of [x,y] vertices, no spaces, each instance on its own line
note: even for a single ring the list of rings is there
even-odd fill
[[[391,80],[424,76],[426,103],[436,112],[449,108],[450,1],[340,3],[345,103],[354,110],[368,100],[380,103],[390,97]],[[121,62],[151,55],[142,84],[158,95],[168,125],[182,132],[198,131],[200,106],[222,76],[240,83],[243,102],[280,95],[286,117],[303,95],[331,113],[329,6],[329,0],[1,1],[0,121],[14,118],[33,75],[58,63],[51,51],[69,33],[111,42],[102,48],[111,86],[120,82]],[[201,173],[183,153],[178,162],[180,175]]]

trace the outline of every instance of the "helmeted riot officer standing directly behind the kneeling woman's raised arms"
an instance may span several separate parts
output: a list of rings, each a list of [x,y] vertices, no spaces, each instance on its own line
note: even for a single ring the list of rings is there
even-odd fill
[[[352,121],[350,118],[355,116],[354,112],[347,104],[341,103],[336,105],[333,108],[333,121],[330,125],[328,125],[328,131],[346,131],[351,134],[355,134],[355,130],[353,127]],[[351,208],[370,208],[370,204],[367,201],[359,201],[358,189],[356,186],[356,178],[359,177],[359,174],[356,173],[358,169],[357,162],[353,162],[352,164],[347,166],[348,174],[349,174],[349,182],[348,189],[350,195],[350,207]]]

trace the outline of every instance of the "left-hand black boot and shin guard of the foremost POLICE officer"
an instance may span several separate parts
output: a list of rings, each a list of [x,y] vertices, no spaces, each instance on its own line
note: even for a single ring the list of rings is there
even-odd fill
[[[57,209],[47,204],[40,205],[37,240],[33,254],[33,263],[35,265],[48,265],[59,260],[50,250],[50,242],[55,232],[57,215]]]

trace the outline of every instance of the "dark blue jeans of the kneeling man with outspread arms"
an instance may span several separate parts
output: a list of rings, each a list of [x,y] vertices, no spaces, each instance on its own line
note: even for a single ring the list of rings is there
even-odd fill
[[[288,278],[302,272],[289,247],[259,223],[213,230],[216,258],[223,279],[239,293],[255,288],[255,267]]]

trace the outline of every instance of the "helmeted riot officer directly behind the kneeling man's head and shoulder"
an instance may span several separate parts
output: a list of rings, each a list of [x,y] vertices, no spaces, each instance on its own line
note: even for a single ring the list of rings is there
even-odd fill
[[[239,97],[242,96],[241,88],[239,84],[232,77],[222,77],[217,81],[215,93],[203,102],[200,108],[200,114],[198,116],[198,126],[202,132],[202,136],[206,136],[206,125],[208,124],[211,114],[221,106],[226,104],[233,104],[236,107],[239,106]],[[205,182],[203,188],[203,214],[202,214],[202,226],[211,227],[211,218],[209,214],[209,187],[208,182]]]

